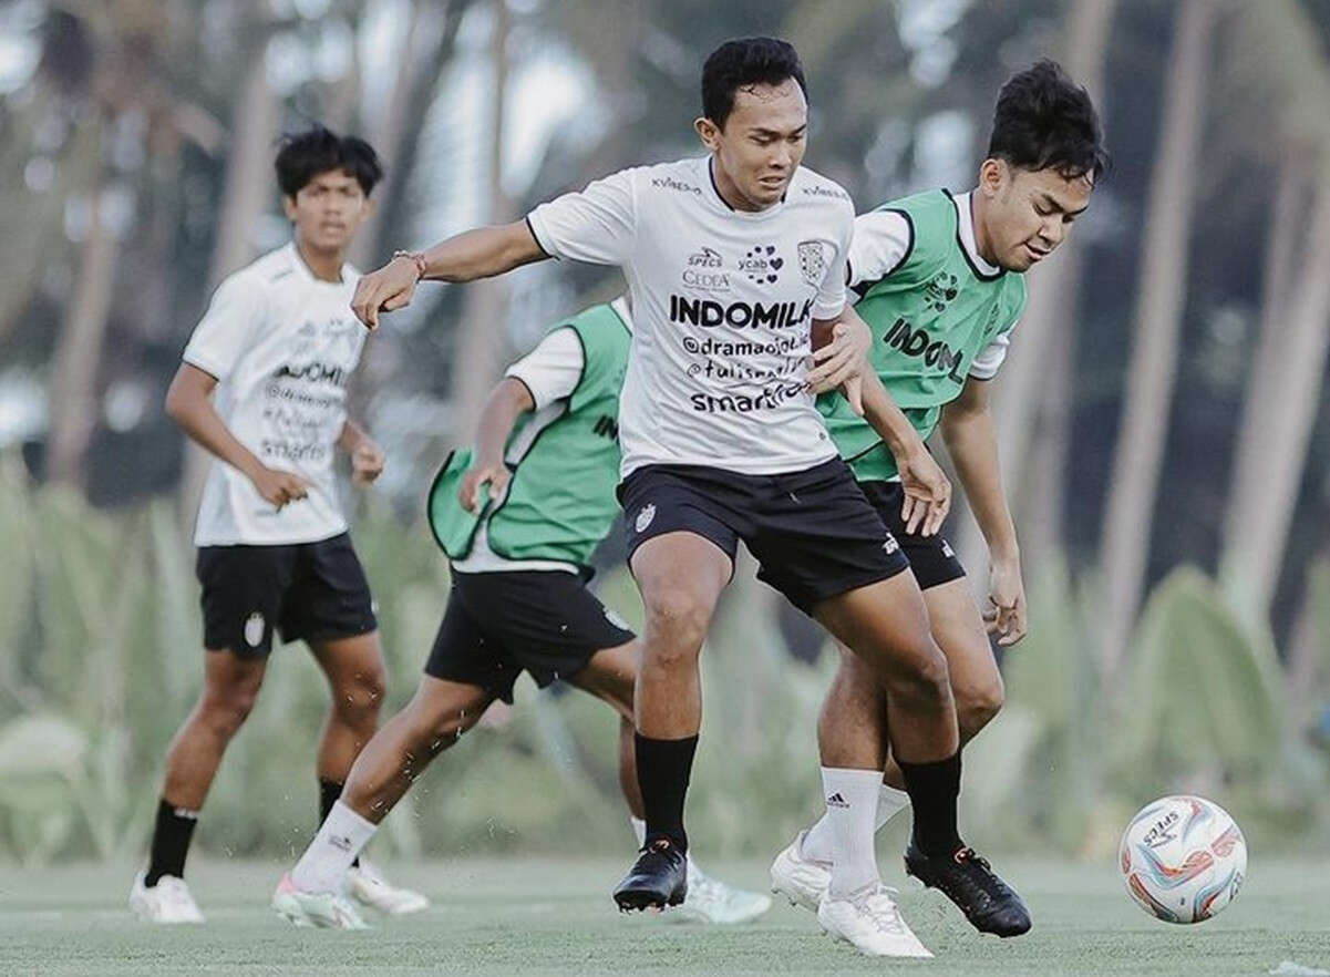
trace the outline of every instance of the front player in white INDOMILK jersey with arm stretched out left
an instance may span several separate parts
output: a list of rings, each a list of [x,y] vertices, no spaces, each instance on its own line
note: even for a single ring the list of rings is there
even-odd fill
[[[799,164],[803,69],[785,41],[722,44],[702,69],[706,154],[614,173],[525,221],[396,258],[356,288],[356,315],[410,302],[420,280],[469,281],[549,257],[617,265],[636,329],[620,410],[620,500],[646,610],[636,755],[646,809],[622,909],[686,892],[684,797],[701,723],[698,654],[742,539],[759,575],[862,656],[891,701],[890,739],[918,813],[916,841],[948,872],[960,755],[947,663],[918,586],[837,455],[815,389],[863,381],[866,411],[902,466],[906,504],[930,520],[948,486],[867,369],[866,326],[846,305],[849,196]],[[811,335],[830,334],[814,355]],[[920,518],[924,518],[920,514]],[[837,767],[880,771],[880,741]],[[875,800],[875,799],[874,799]],[[850,839],[853,832],[847,833]],[[845,901],[841,934],[874,953],[927,956],[872,880]]]

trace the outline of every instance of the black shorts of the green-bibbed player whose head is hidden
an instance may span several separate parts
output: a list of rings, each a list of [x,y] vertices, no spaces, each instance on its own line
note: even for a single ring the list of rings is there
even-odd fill
[[[633,640],[577,574],[454,574],[426,675],[479,685],[505,703],[523,671],[544,688],[580,672],[601,648]]]

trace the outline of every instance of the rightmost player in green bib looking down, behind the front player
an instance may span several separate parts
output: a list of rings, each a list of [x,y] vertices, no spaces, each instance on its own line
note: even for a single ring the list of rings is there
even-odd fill
[[[1003,701],[988,634],[996,634],[1001,646],[1025,634],[1020,552],[1003,495],[990,382],[1025,307],[1023,273],[1067,238],[1105,165],[1099,118],[1085,89],[1059,65],[1040,61],[1003,87],[975,189],[927,190],[855,218],[849,278],[859,295],[855,310],[874,334],[871,362],[922,438],[942,431],[988,543],[988,615],[980,614],[947,542],[910,532],[902,523],[900,481],[876,433],[838,393],[823,395],[819,409],[919,580],[934,639],[947,658],[962,743]],[[829,721],[831,716],[838,721]],[[837,755],[841,744],[833,740],[846,731],[886,743],[884,697],[853,655],[842,654],[819,727],[823,763],[829,753]],[[862,769],[833,765],[822,768],[822,779],[826,815],[799,832],[771,865],[773,889],[814,910],[825,898],[845,898],[876,880],[872,836],[910,804],[890,757],[882,783]],[[952,857],[978,856],[960,849]],[[994,893],[948,884],[931,861],[912,844],[906,851],[906,871],[926,885],[936,884],[976,921],[974,910]],[[1024,910],[1000,922],[983,928],[999,936],[1029,928]]]

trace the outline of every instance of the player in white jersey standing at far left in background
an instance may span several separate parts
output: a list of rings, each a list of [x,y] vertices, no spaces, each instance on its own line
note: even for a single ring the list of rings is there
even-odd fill
[[[203,689],[168,749],[149,863],[129,897],[150,922],[203,921],[185,857],[226,744],[263,682],[274,628],[306,642],[329,680],[322,817],[383,700],[378,623],[332,469],[339,449],[362,485],[384,463],[346,414],[364,330],[347,309],[359,276],[344,260],[382,168],[367,142],[323,128],[287,138],[275,168],[294,240],[218,286],[166,394],[166,411],[215,459],[194,528]],[[388,913],[427,905],[363,861],[348,889]]]

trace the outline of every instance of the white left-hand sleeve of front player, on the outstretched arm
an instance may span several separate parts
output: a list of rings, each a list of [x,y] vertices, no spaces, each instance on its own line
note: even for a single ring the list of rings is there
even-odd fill
[[[633,170],[610,173],[580,193],[565,193],[527,216],[544,252],[595,265],[625,265],[637,240]]]

